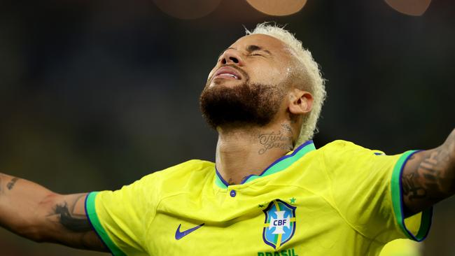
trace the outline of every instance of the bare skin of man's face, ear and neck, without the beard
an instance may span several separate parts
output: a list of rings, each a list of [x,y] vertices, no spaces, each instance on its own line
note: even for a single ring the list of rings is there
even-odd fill
[[[262,50],[251,50],[259,46]],[[224,180],[239,184],[244,177],[260,174],[276,159],[292,150],[302,124],[311,111],[313,97],[293,81],[295,57],[280,40],[263,34],[239,38],[225,50],[209,73],[207,86],[235,87],[243,81],[217,78],[225,65],[235,65],[248,74],[251,83],[281,86],[286,96],[274,120],[265,127],[217,127],[216,166]],[[292,118],[293,116],[297,118]],[[274,140],[276,143],[265,141]]]

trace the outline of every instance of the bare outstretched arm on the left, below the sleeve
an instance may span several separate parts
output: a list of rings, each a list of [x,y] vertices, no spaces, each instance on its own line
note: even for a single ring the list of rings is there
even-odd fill
[[[0,226],[38,242],[107,252],[87,220],[85,197],[0,173]]]

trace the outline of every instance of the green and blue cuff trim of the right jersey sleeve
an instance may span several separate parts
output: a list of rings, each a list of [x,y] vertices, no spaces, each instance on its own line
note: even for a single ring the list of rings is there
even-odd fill
[[[403,153],[398,159],[393,167],[392,180],[391,180],[391,192],[392,192],[392,204],[393,204],[393,213],[395,213],[395,220],[398,222],[398,226],[404,234],[406,234],[408,239],[414,241],[423,241],[428,234],[431,226],[431,216],[433,215],[433,207],[429,208],[422,212],[421,214],[421,223],[419,227],[419,232],[414,236],[412,232],[407,229],[405,225],[405,215],[403,214],[403,203],[402,203],[402,184],[401,184],[401,173],[403,168],[412,155],[414,155],[417,150],[409,150]]]

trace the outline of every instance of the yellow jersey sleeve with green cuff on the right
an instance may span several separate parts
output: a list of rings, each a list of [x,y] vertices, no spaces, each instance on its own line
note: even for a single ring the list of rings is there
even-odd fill
[[[425,239],[433,209],[409,218],[402,210],[401,173],[415,150],[389,156],[347,141],[335,141],[326,147],[323,159],[332,197],[349,225],[381,243],[400,238]]]

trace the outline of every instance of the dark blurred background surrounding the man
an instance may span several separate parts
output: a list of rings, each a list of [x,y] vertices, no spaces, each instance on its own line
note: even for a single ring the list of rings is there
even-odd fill
[[[200,92],[243,26],[264,21],[297,34],[327,79],[316,147],[345,139],[392,155],[454,129],[453,1],[0,1],[0,170],[74,193],[214,160]],[[422,255],[455,255],[454,215],[454,198],[435,207]],[[105,255],[1,228],[0,248]]]

